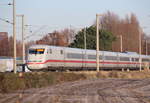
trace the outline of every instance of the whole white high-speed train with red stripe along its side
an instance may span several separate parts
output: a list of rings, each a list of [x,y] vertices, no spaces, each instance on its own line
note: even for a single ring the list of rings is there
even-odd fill
[[[150,63],[150,56],[135,52],[99,51],[100,69],[139,69]],[[140,59],[141,58],[141,59]],[[96,70],[96,50],[32,45],[28,50],[27,67],[39,70]]]

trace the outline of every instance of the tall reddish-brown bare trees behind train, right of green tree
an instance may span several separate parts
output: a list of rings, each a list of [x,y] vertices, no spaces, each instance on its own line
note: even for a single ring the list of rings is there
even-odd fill
[[[139,23],[136,16],[132,13],[125,19],[120,19],[113,12],[107,12],[101,18],[102,29],[108,30],[116,37],[122,35],[123,51],[139,52]],[[143,39],[143,33],[142,33]],[[129,45],[130,44],[130,45]],[[119,38],[112,44],[113,51],[120,51]]]

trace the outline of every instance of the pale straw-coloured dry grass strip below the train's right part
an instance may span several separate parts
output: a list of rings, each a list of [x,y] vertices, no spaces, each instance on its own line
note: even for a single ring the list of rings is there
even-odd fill
[[[150,71],[82,71],[76,74],[83,74],[86,78],[123,78],[123,79],[143,79],[150,78]]]

